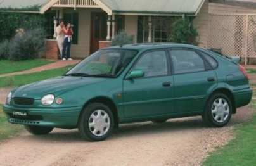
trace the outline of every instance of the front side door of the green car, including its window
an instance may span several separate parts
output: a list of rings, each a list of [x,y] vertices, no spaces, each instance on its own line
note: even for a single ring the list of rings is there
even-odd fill
[[[144,76],[124,80],[125,118],[154,117],[172,112],[174,80],[168,59],[167,51],[156,50],[144,53],[136,61],[131,71],[142,70]]]

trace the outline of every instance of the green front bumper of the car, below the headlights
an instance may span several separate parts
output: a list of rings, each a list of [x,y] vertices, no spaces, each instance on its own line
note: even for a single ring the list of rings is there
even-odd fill
[[[11,105],[3,106],[4,113],[11,124],[39,125],[45,127],[75,128],[82,107],[72,108],[25,108]],[[25,112],[27,116],[15,116],[13,112]]]

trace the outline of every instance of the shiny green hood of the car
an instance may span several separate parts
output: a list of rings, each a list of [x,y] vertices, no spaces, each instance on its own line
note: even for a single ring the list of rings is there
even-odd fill
[[[13,93],[13,97],[41,99],[42,96],[46,94],[54,94],[58,96],[61,93],[66,93],[67,91],[72,91],[79,87],[96,84],[105,80],[106,78],[95,77],[55,77],[53,79],[47,79],[19,87]]]

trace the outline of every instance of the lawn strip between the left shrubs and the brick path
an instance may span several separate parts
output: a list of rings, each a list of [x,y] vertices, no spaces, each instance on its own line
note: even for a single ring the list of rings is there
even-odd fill
[[[31,68],[47,65],[49,63],[53,63],[53,61],[42,60],[42,59],[25,60],[25,61],[0,60],[0,67],[1,67],[0,74],[29,70]]]

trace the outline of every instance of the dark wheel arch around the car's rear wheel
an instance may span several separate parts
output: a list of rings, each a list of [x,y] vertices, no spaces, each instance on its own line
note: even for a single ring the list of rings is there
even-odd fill
[[[236,113],[236,103],[234,100],[234,94],[232,93],[232,91],[230,89],[227,89],[226,87],[220,87],[220,88],[212,91],[212,93],[210,93],[210,95],[208,95],[207,102],[205,103],[205,106],[207,105],[207,103],[208,103],[209,99],[212,97],[212,95],[214,95],[215,93],[223,93],[230,99],[231,104],[232,104],[232,112],[233,112],[233,114],[235,114]]]

